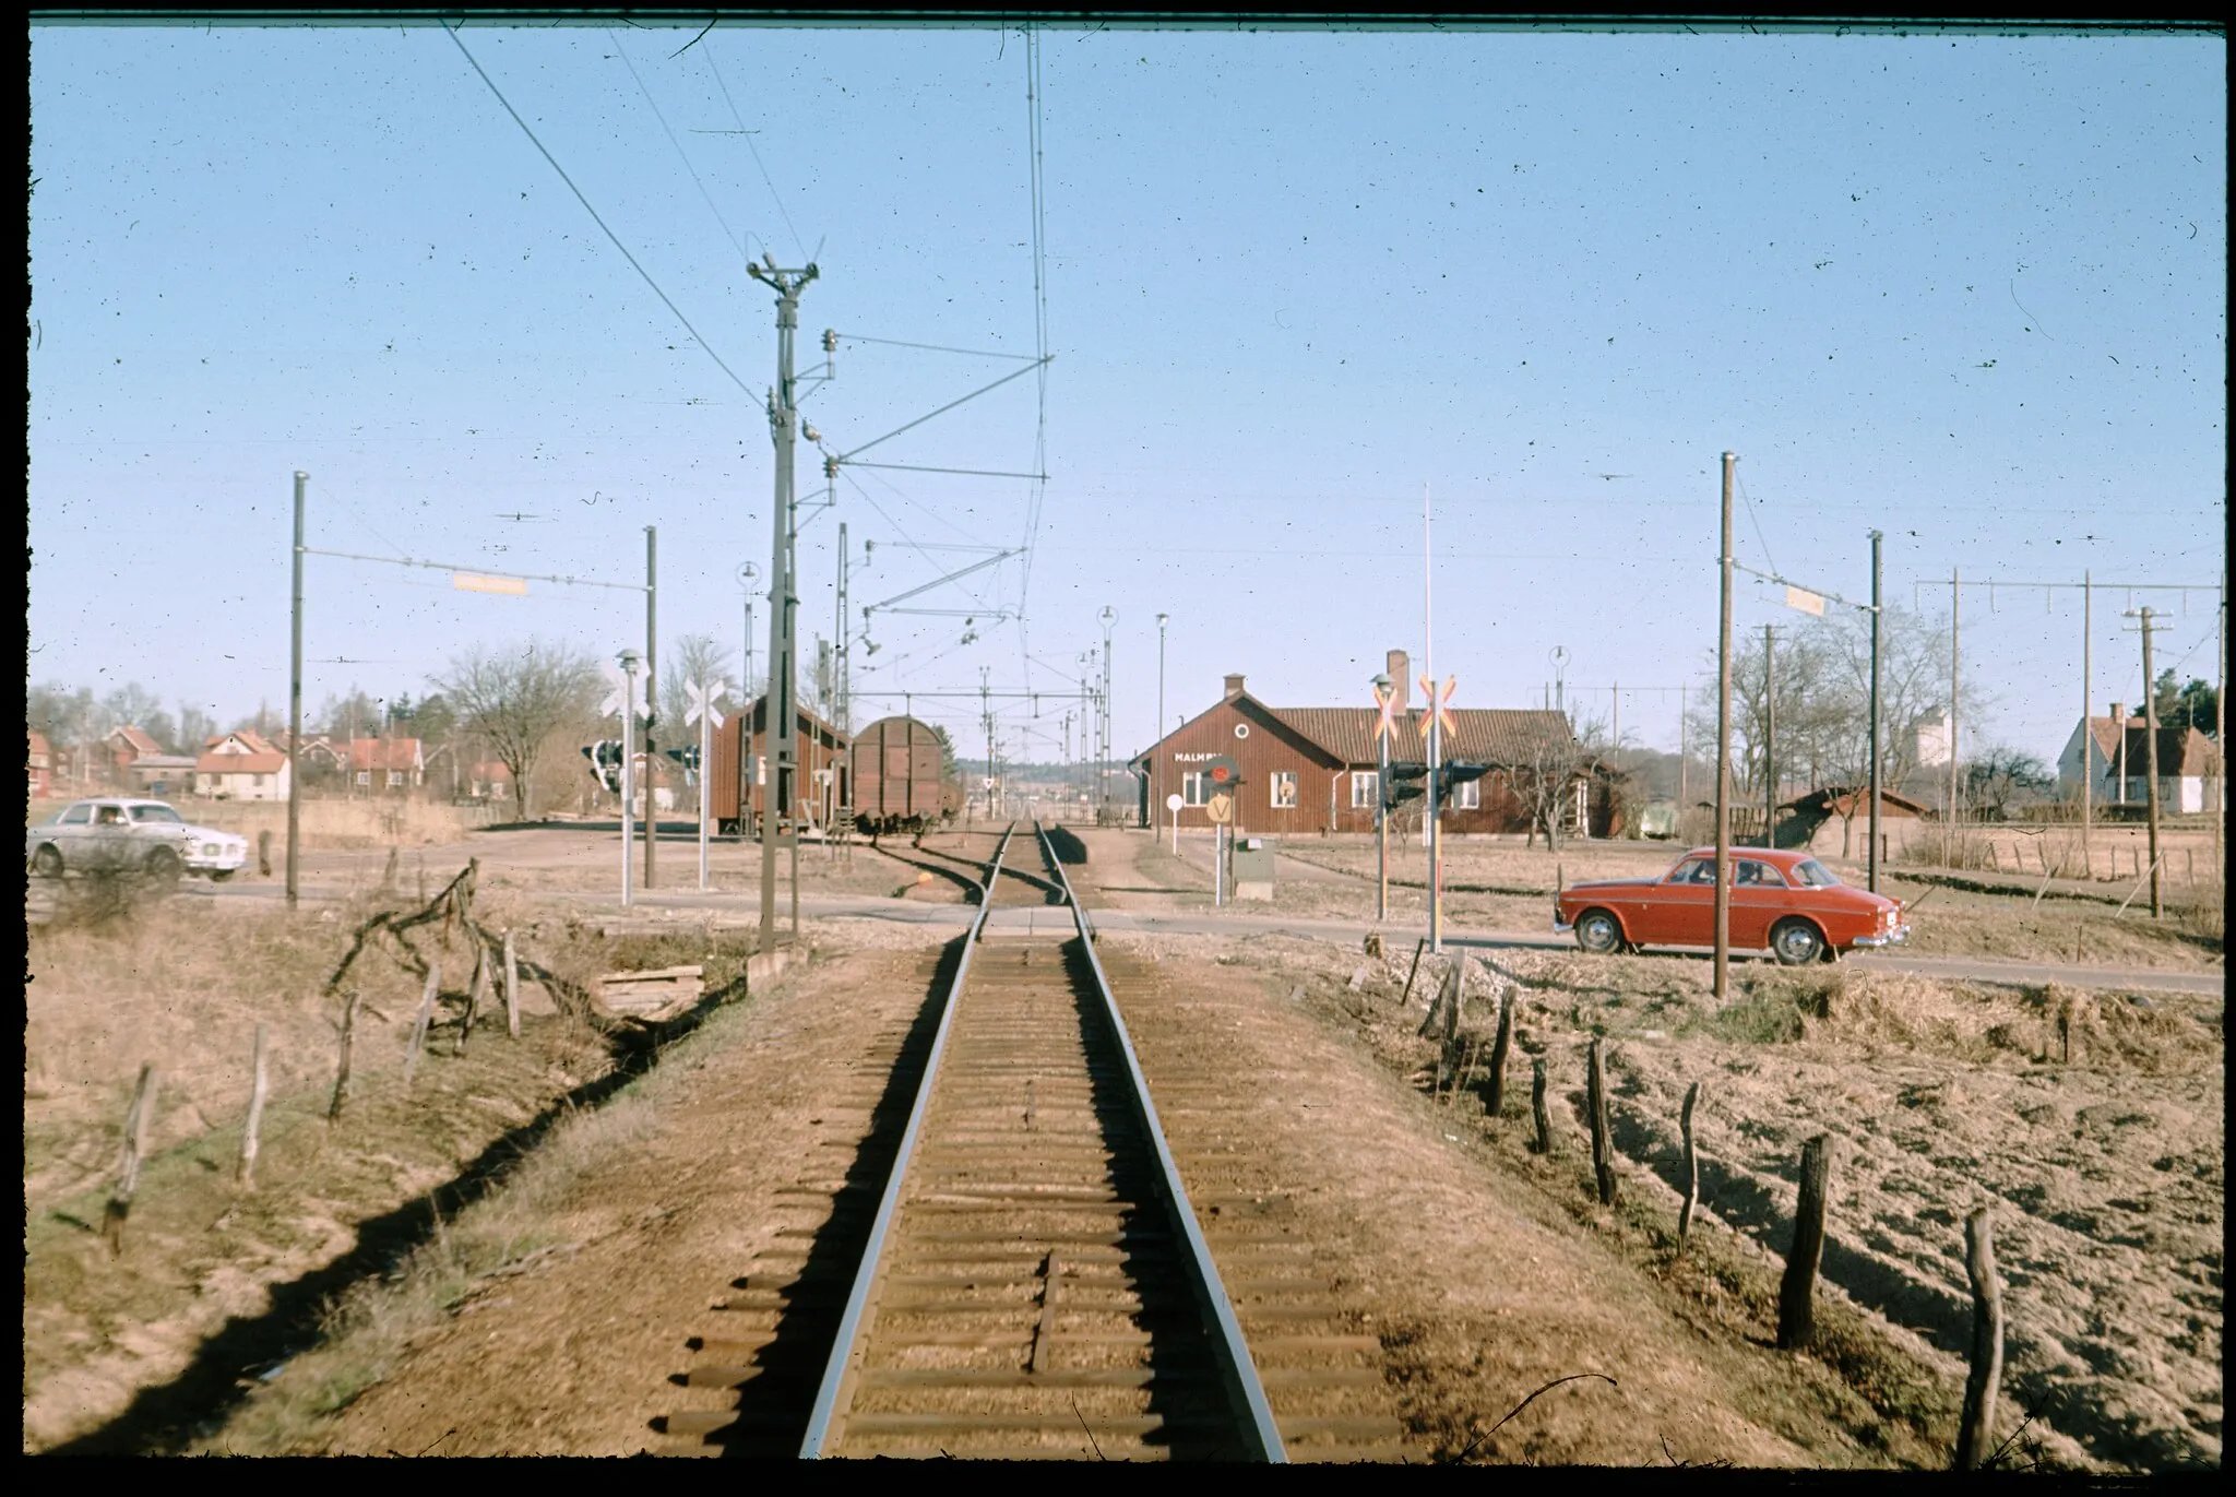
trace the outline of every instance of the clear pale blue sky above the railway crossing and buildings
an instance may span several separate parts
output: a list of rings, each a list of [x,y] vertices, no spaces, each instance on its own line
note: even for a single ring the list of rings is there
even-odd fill
[[[803,367],[825,327],[1033,349],[1020,34],[465,38],[747,389],[443,31],[36,29],[31,678],[284,709],[297,468],[313,546],[635,580],[657,524],[662,638],[736,640],[774,369],[740,246],[818,253]],[[890,618],[859,721],[982,667],[1062,691],[1105,604],[1120,752],[1152,736],[1158,611],[1167,716],[1223,671],[1364,705],[1384,649],[1422,656],[1424,486],[1458,705],[1534,705],[1556,644],[1588,700],[1699,680],[1722,450],[1740,559],[1854,597],[1872,526],[1896,602],[1952,566],[2220,575],[2220,40],[1049,31],[1042,87],[1031,580],[917,600],[1022,595],[1038,665],[1017,624],[959,647],[961,620]],[[845,342],[807,416],[845,450],[1013,367]],[[1029,470],[1033,385],[877,456]],[[859,609],[968,559],[932,546],[1022,544],[1026,512],[1020,481],[841,479],[803,638],[834,629],[836,521],[877,544]],[[631,593],[309,573],[311,703],[423,691],[467,642],[642,638]],[[2211,600],[2156,602],[2162,660],[2211,676]],[[2097,709],[2140,682],[2122,604]],[[1800,620],[1746,586],[1737,622]],[[1968,595],[1983,738],[2062,745],[2079,635],[2073,595]],[[1006,752],[1058,756],[1060,718],[1013,707]],[[1673,747],[1675,698],[1626,696],[1623,727]]]

